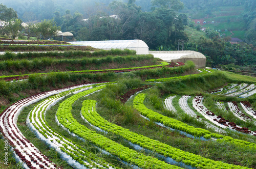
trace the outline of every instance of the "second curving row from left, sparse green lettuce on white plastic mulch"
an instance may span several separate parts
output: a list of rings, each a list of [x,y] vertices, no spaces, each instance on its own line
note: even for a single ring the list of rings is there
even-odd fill
[[[62,152],[60,152],[60,154],[69,155],[70,158],[67,158],[67,157],[65,158],[67,162],[69,162],[70,159],[73,158],[75,161],[79,162],[80,164],[88,168],[93,168],[93,167],[113,168],[105,161],[102,161],[101,159],[97,158],[97,156],[90,153],[88,150],[82,148],[81,146],[72,142],[68,138],[63,137],[57,131],[54,131],[52,127],[49,126],[45,120],[45,112],[47,109],[49,109],[51,106],[56,104],[61,99],[64,99],[65,96],[70,95],[71,93],[77,93],[83,90],[92,89],[92,87],[90,86],[91,85],[88,85],[82,88],[73,89],[66,92],[62,92],[60,94],[51,96],[50,98],[47,98],[46,100],[40,102],[31,110],[30,118],[29,118],[30,121],[28,121],[27,119],[27,123],[32,124],[34,126],[34,130],[38,133],[38,135],[39,133],[41,134],[41,136],[39,136],[40,139],[46,140],[46,142],[52,148],[55,148],[58,152],[60,152],[61,150]],[[97,161],[97,163],[95,161]],[[71,164],[75,165],[73,162]],[[76,166],[78,168],[81,168],[82,166],[80,164],[76,164]]]

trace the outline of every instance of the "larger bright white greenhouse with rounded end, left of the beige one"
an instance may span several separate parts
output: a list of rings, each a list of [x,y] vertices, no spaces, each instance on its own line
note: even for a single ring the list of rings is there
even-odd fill
[[[81,41],[69,42],[75,45],[92,46],[98,49],[130,49],[136,50],[137,54],[148,54],[148,46],[142,40],[113,40],[113,41]]]

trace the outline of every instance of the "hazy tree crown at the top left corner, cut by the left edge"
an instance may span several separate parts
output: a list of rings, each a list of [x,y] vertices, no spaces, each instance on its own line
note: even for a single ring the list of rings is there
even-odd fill
[[[12,8],[0,4],[0,20],[9,21],[11,19],[17,19],[17,12]]]

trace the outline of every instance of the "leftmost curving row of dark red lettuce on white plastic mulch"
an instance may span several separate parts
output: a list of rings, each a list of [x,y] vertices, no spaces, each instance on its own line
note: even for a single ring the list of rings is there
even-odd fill
[[[5,109],[0,115],[0,130],[3,133],[5,139],[8,139],[9,144],[15,147],[14,152],[19,157],[24,165],[30,168],[48,168],[56,167],[56,165],[50,161],[45,155],[41,154],[39,150],[29,142],[28,139],[20,132],[17,127],[17,117],[22,109],[30,104],[33,104],[41,99],[49,97],[51,95],[65,92],[70,89],[78,88],[75,86],[72,88],[60,89],[57,91],[50,91],[33,95],[31,97],[19,100]],[[47,161],[47,162],[46,162]]]

